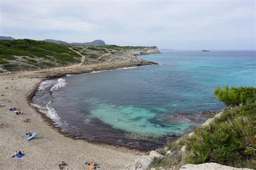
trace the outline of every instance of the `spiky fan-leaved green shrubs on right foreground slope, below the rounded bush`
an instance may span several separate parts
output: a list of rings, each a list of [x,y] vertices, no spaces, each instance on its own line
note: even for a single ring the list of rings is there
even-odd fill
[[[186,164],[217,162],[218,164],[251,167],[255,160],[256,104],[225,109],[220,118],[208,126],[199,126],[196,135],[187,137]]]

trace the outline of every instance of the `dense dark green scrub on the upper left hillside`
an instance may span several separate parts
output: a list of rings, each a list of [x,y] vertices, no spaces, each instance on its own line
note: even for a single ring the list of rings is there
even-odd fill
[[[31,39],[2,40],[0,58],[13,60],[13,56],[28,56],[51,59],[63,65],[77,63],[80,55],[69,49],[68,45],[55,44]],[[52,57],[49,57],[52,56]],[[35,63],[30,61],[30,63]]]

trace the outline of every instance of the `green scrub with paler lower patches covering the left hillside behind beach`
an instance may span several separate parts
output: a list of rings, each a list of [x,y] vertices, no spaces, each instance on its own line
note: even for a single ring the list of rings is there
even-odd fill
[[[1,40],[0,49],[1,63],[4,64],[3,69],[8,71],[20,69],[19,64],[10,63],[15,63],[18,56],[22,56],[24,59],[24,61],[19,61],[20,63],[26,61],[26,64],[40,67],[53,66],[54,64],[49,64],[52,62],[59,65],[79,63],[81,57],[75,51],[70,50],[68,45],[31,39]],[[3,59],[9,64],[3,62]]]

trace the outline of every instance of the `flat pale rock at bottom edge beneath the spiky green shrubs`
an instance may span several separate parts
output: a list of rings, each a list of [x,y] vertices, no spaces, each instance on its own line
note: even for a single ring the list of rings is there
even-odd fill
[[[189,169],[189,170],[252,170],[248,168],[234,168],[231,166],[225,166],[225,165],[220,165],[216,163],[205,163],[205,164],[199,164],[199,165],[193,165],[193,164],[186,164],[181,166],[181,170],[183,169]]]

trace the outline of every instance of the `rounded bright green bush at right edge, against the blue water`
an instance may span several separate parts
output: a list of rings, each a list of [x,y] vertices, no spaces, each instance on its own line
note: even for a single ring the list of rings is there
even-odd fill
[[[256,88],[254,87],[231,87],[225,89],[217,87],[214,90],[215,96],[218,100],[223,101],[226,105],[239,105],[241,103],[255,103],[256,101]]]

